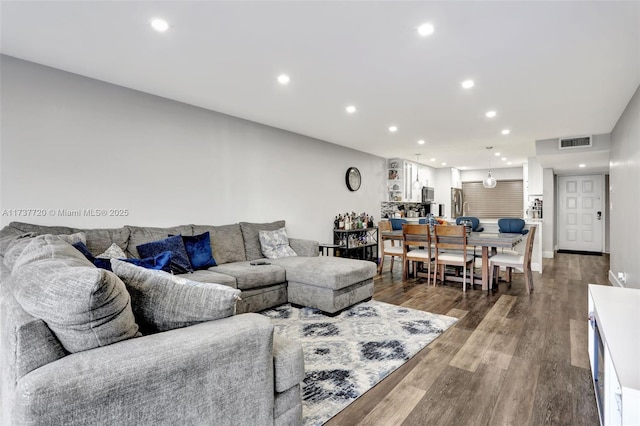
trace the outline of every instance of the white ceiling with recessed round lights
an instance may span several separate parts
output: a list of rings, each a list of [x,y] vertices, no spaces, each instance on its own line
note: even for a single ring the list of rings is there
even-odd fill
[[[3,54],[434,167],[609,133],[640,84],[638,1],[3,0],[0,17]]]

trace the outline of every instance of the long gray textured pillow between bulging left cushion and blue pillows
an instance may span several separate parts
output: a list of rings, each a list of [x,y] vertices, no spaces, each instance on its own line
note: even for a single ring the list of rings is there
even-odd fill
[[[235,314],[240,290],[191,281],[111,259],[111,268],[131,294],[133,312],[143,332],[186,327]]]

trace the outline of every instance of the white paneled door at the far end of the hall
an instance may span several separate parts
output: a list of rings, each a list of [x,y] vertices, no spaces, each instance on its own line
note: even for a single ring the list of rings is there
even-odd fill
[[[558,176],[558,249],[602,252],[602,175]]]

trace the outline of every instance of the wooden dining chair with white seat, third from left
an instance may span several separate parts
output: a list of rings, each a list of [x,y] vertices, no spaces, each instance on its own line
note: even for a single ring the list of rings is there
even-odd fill
[[[444,284],[445,267],[462,267],[462,291],[467,291],[467,269],[473,288],[473,253],[467,253],[467,230],[463,225],[436,225],[436,277],[440,274],[440,280]],[[435,278],[434,278],[435,284]]]

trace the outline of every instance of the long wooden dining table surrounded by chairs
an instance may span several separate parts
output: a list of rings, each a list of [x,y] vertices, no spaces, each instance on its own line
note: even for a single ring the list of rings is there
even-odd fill
[[[402,241],[402,230],[386,231],[380,234],[382,244],[385,240]],[[432,234],[432,241],[433,241]],[[447,237],[443,242],[455,243],[460,241],[461,237]],[[426,236],[425,236],[426,240]],[[482,278],[480,280],[482,284],[482,290],[489,290],[489,257],[494,255],[498,248],[514,248],[518,243],[522,241],[522,234],[511,233],[495,233],[495,232],[471,232],[467,234],[467,247],[482,247]],[[474,279],[474,284],[475,284]]]

